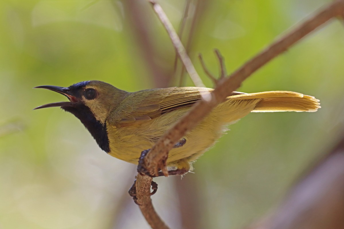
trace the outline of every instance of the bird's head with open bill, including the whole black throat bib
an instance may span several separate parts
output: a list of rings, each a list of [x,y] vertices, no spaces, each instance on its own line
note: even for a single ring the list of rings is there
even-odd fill
[[[88,129],[99,147],[110,152],[106,119],[121,101],[129,94],[111,84],[91,80],[75,83],[68,88],[57,86],[39,86],[65,95],[69,102],[49,103],[35,109],[60,106],[74,114]]]

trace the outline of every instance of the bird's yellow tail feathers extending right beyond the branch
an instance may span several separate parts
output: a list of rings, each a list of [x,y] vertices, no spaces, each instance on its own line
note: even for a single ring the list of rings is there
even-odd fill
[[[318,99],[292,91],[266,91],[228,97],[234,100],[261,99],[251,112],[315,112],[320,108]]]

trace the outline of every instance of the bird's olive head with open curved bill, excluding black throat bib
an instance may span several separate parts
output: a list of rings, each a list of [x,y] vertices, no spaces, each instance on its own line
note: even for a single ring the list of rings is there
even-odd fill
[[[111,84],[91,80],[75,83],[67,88],[57,86],[39,86],[65,95],[69,102],[49,103],[35,109],[60,106],[63,110],[71,112],[77,118],[92,115],[97,121],[104,124],[111,110],[113,110],[128,92],[115,88]],[[81,120],[83,122],[83,120]],[[84,123],[84,122],[83,122]]]

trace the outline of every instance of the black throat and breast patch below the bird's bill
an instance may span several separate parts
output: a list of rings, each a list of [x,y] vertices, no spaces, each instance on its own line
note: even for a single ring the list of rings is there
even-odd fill
[[[83,104],[73,104],[73,106],[62,106],[63,110],[71,112],[88,129],[98,146],[105,152],[110,152],[109,138],[106,131],[106,123],[100,123],[91,110]]]

